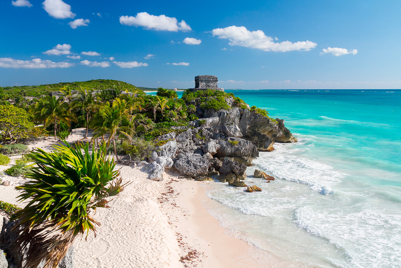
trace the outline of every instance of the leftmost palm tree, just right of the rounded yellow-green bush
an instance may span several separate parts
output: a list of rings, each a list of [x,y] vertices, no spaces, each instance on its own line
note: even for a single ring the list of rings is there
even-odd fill
[[[75,116],[67,109],[68,104],[64,102],[64,98],[56,98],[55,96],[46,96],[36,103],[33,109],[35,120],[44,121],[44,126],[54,125],[54,139],[56,140],[57,123],[64,122],[67,125],[71,121],[76,121]]]

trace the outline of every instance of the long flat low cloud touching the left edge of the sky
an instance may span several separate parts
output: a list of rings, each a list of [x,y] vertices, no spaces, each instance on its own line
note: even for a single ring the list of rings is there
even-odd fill
[[[0,58],[0,67],[2,68],[26,68],[26,69],[39,69],[39,68],[68,68],[74,66],[69,62],[53,62],[49,60],[31,59],[30,61],[23,61],[20,59]]]

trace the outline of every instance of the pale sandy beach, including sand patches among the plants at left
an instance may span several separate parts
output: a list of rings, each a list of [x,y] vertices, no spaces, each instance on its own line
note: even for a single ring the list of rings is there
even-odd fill
[[[84,129],[75,129],[69,141],[81,140],[84,134]],[[50,151],[55,144],[48,139],[32,141],[29,147]],[[123,181],[132,183],[111,200],[110,208],[97,209],[97,237],[89,233],[87,241],[76,239],[75,267],[245,267],[239,258],[250,246],[226,235],[202,205],[207,197],[201,184],[213,182],[186,180],[173,172],[156,182],[140,168],[119,168]],[[24,179],[6,175],[3,180],[13,185],[0,185],[0,200],[22,207],[14,186]]]

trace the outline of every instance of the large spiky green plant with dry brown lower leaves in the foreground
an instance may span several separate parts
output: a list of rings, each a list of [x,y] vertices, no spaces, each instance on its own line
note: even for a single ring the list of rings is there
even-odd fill
[[[29,200],[15,213],[13,252],[18,254],[29,244],[24,268],[36,268],[42,260],[45,267],[57,267],[79,234],[86,236],[100,225],[91,212],[108,207],[106,200],[124,190],[119,170],[106,146],[93,148],[76,143],[75,148],[55,146],[48,153],[35,149],[28,154],[36,163],[24,176],[28,184],[16,187],[20,200]]]

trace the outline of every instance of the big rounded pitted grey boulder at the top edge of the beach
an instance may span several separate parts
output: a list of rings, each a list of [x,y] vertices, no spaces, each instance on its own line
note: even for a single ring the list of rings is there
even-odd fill
[[[206,176],[209,173],[209,156],[199,154],[180,153],[177,155],[175,168],[191,177]]]

